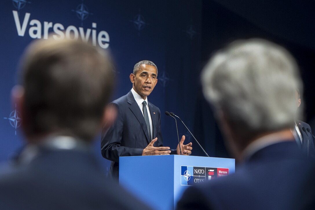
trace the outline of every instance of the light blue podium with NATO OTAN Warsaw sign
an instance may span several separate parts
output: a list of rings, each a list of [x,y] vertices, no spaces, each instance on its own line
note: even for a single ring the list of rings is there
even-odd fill
[[[190,185],[235,172],[229,158],[154,155],[119,158],[119,184],[154,209],[174,209]]]

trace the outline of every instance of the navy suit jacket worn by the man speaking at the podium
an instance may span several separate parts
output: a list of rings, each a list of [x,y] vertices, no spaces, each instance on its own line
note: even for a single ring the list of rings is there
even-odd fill
[[[142,155],[143,149],[156,137],[154,146],[163,146],[161,112],[152,103],[148,103],[153,126],[152,139],[149,139],[146,122],[131,91],[112,104],[117,107],[117,119],[111,128],[102,131],[101,152],[104,158],[112,161],[112,176],[118,177],[120,156]]]

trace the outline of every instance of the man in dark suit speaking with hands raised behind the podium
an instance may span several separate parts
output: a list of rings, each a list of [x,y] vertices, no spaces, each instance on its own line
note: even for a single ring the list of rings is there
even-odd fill
[[[111,128],[104,128],[101,138],[101,153],[112,160],[111,175],[119,176],[120,156],[180,154],[163,147],[161,112],[148,102],[157,84],[157,66],[152,61],[140,61],[130,74],[132,89],[125,96],[112,102],[117,108],[117,119]],[[180,140],[182,155],[190,155],[192,143],[184,145],[185,136]]]

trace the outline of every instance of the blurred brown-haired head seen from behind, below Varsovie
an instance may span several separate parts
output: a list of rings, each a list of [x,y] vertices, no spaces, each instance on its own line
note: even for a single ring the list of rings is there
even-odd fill
[[[93,139],[113,85],[103,51],[82,41],[36,40],[20,68],[21,85],[12,94],[28,141],[49,134]]]

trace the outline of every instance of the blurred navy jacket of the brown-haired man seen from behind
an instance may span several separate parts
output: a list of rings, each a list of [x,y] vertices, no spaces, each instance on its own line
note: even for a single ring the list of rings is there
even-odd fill
[[[107,178],[89,151],[41,149],[0,172],[0,209],[147,209]]]

